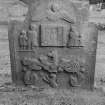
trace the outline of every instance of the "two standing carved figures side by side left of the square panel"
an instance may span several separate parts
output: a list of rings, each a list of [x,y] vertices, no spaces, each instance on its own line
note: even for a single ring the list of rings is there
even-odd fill
[[[21,50],[30,50],[33,46],[38,46],[36,25],[31,24],[29,30],[22,30],[18,37]]]

